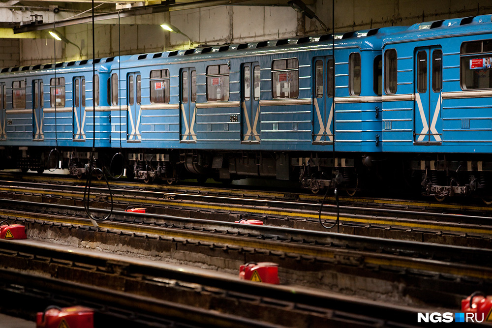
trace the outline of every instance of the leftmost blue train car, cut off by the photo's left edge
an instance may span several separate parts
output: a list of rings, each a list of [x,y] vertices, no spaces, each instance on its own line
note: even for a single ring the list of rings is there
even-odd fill
[[[94,137],[95,147],[110,149],[111,118],[104,86],[113,59],[95,60],[95,88],[92,60],[3,68],[1,168],[43,172],[62,161],[72,174],[81,175]]]

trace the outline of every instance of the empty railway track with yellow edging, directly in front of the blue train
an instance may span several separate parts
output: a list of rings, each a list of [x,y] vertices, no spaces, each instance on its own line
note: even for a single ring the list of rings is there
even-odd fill
[[[224,221],[255,218],[263,220],[267,225],[324,230],[318,221],[320,203],[314,202],[321,200],[312,198],[312,195],[260,193],[253,197],[256,191],[206,190],[201,187],[184,189],[183,186],[181,190],[174,187],[170,192],[167,189],[142,190],[145,185],[122,183],[118,181],[112,185],[115,206],[119,209],[132,205],[150,208],[149,211],[155,214],[215,217]],[[82,204],[82,186],[20,181],[0,181],[0,184],[0,193],[5,198]],[[92,206],[107,206],[106,188],[92,187],[91,191],[96,200]],[[492,245],[492,218],[487,216],[487,212],[479,215],[480,207],[457,206],[453,213],[443,213],[437,211],[440,207],[429,208],[425,204],[390,200],[384,204],[382,201],[373,199],[372,204],[378,205],[372,207],[368,206],[368,199],[358,199],[352,204],[343,201],[340,206],[340,232],[484,248]],[[333,203],[323,206],[323,221],[331,223],[335,220],[337,209]],[[475,215],[462,214],[468,210],[472,210]]]

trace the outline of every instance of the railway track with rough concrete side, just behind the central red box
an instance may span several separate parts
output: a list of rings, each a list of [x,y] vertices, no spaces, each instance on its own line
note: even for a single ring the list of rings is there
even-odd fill
[[[235,274],[246,262],[276,262],[285,284],[400,304],[454,307],[492,287],[491,249],[124,211],[94,228],[78,207],[3,201],[1,208],[31,239]]]

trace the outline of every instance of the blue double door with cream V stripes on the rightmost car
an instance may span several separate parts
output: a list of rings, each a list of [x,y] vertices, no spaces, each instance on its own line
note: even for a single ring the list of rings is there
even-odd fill
[[[441,145],[441,89],[441,48],[418,48],[415,54],[415,144]]]

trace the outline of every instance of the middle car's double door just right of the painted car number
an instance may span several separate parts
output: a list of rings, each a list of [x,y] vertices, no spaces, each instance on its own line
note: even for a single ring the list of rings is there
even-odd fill
[[[247,62],[242,66],[241,140],[256,143],[260,141],[260,64]]]

